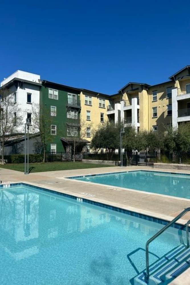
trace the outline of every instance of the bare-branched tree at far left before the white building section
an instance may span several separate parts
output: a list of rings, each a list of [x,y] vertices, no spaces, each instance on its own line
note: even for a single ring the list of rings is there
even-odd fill
[[[4,164],[4,148],[11,136],[18,133],[22,122],[22,113],[19,104],[14,102],[14,92],[9,89],[0,89],[0,144],[2,164]]]

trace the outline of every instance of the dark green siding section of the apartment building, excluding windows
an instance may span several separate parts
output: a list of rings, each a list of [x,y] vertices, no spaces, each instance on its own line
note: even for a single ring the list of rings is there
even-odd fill
[[[58,90],[58,100],[49,98],[49,88]],[[45,83],[40,89],[40,108],[47,110],[51,115],[51,106],[56,107],[56,116],[51,116],[51,124],[56,125],[56,135],[51,135],[52,140],[48,144],[47,151],[51,150],[51,144],[56,144],[56,152],[65,152],[60,137],[67,136],[68,126],[79,126],[80,124],[80,108],[68,105],[68,93],[77,95],[77,106],[80,105],[79,90],[72,90],[62,87],[59,84]],[[77,119],[67,118],[67,110],[77,110]],[[51,124],[49,131],[51,133]],[[78,127],[79,134],[79,127]]]

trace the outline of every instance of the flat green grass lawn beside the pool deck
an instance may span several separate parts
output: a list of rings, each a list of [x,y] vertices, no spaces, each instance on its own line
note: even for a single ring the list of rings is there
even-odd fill
[[[30,163],[30,172],[43,172],[43,171],[56,171],[56,170],[70,170],[82,168],[97,168],[97,167],[110,167],[111,165],[91,164],[83,162],[46,162],[46,163]],[[0,165],[0,168],[7,168],[24,172],[24,164],[5,164]]]

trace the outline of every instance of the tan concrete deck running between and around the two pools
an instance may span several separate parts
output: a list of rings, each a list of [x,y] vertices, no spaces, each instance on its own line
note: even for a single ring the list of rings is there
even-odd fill
[[[29,175],[24,175],[22,172],[15,170],[0,168],[0,180],[2,180],[2,183],[26,182],[168,221],[171,221],[171,219],[183,211],[184,208],[190,207],[190,200],[188,199],[65,179],[65,177],[68,176],[122,172],[126,170],[155,170],[161,172],[190,174],[189,170],[171,170],[163,168],[154,169],[153,167],[146,166],[114,166],[109,168],[61,170],[30,173]],[[183,219],[179,220],[179,223],[185,224],[188,219],[190,219],[190,213],[184,215]],[[181,276],[183,276],[183,278]],[[190,285],[190,269],[187,269],[183,274],[171,282],[171,284]]]

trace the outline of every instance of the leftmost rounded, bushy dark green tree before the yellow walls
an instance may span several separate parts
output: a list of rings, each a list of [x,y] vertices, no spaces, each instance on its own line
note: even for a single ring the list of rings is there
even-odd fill
[[[101,123],[91,141],[91,148],[99,150],[105,148],[106,152],[111,150],[112,154],[120,145],[120,126],[114,122]]]

